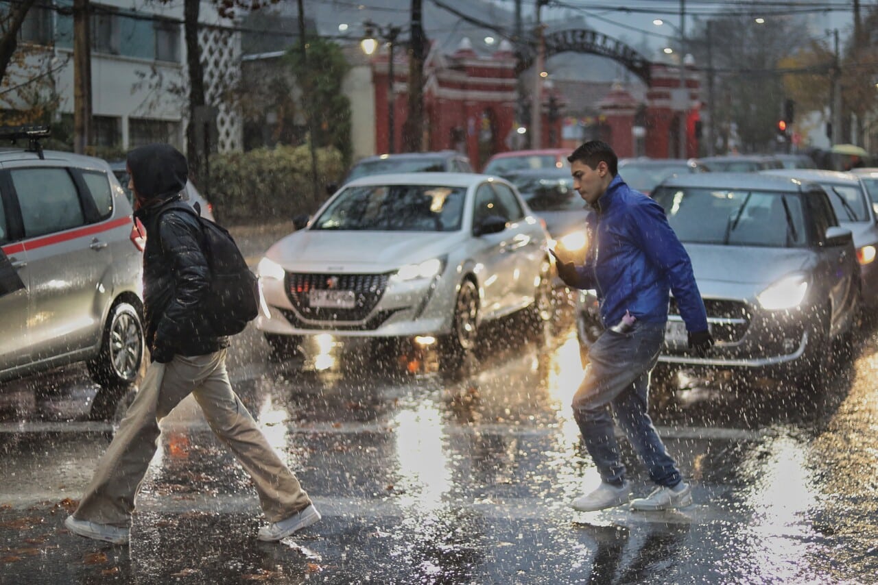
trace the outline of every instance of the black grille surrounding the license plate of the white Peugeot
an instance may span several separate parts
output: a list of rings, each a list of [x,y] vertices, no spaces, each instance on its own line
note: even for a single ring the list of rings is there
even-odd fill
[[[306,319],[362,321],[384,296],[388,278],[390,275],[287,273],[284,286],[292,306]],[[312,307],[308,301],[308,292],[311,290],[353,290],[355,306],[352,309]]]

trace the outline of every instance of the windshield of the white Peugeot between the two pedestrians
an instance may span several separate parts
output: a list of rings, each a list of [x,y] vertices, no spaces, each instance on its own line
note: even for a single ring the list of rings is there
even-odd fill
[[[342,190],[313,230],[455,232],[466,188],[444,185],[367,185]]]

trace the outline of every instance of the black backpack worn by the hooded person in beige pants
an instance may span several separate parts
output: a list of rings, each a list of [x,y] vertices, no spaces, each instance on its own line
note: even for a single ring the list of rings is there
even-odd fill
[[[201,305],[201,314],[212,327],[212,333],[221,336],[244,331],[259,314],[259,279],[248,268],[238,245],[225,228],[202,218],[200,208],[174,203],[162,214],[169,210],[191,213],[201,225],[207,266],[211,270],[211,292]]]

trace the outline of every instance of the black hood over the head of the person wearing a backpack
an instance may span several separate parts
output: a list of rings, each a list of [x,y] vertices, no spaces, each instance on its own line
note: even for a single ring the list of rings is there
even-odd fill
[[[186,157],[167,144],[139,146],[128,153],[126,163],[142,201],[174,196],[186,187],[189,178]]]

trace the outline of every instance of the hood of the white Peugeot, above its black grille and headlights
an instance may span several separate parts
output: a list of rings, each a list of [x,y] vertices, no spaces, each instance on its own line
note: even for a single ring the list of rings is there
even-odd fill
[[[265,255],[288,272],[383,273],[442,256],[465,239],[464,232],[301,230]]]

